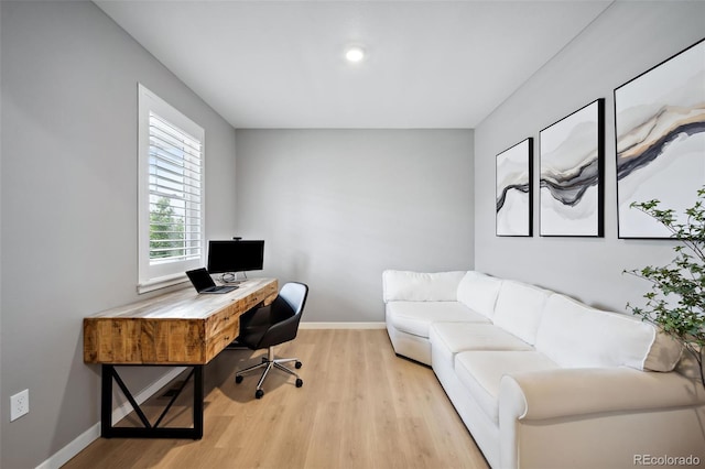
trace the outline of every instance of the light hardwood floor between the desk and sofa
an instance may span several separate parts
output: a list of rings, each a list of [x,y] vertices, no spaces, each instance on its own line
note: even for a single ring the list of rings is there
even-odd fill
[[[276,372],[256,400],[259,373],[234,374],[261,351],[224,350],[205,368],[203,439],[100,438],[64,467],[487,468],[433,371],[397,357],[386,330],[304,329],[276,351],[301,359],[303,388]],[[191,421],[188,399],[170,422]]]

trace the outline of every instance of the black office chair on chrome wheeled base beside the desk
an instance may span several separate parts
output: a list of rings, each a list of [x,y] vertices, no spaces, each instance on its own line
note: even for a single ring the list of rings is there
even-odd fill
[[[296,358],[275,359],[274,346],[293,340],[299,331],[301,314],[308,296],[308,286],[303,283],[291,282],[282,286],[279,295],[271,305],[246,313],[240,318],[240,336],[237,341],[251,350],[268,349],[262,362],[235,373],[235,382],[241,383],[242,375],[250,371],[263,368],[262,377],[257,383],[254,397],[264,395],[262,383],[272,368],[296,377],[296,388],[304,382],[293,370],[283,366],[291,361],[300,369],[302,363]]]

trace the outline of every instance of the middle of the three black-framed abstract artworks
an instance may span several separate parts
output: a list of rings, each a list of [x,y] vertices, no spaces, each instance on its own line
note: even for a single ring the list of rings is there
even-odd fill
[[[604,234],[605,100],[539,133],[541,236]]]

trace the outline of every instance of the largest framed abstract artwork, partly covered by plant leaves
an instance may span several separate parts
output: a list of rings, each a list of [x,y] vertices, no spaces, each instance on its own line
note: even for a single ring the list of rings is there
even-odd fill
[[[619,238],[669,238],[632,203],[692,207],[705,185],[705,40],[615,89]]]

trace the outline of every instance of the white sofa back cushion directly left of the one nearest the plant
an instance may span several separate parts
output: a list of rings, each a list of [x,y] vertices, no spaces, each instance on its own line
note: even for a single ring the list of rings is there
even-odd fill
[[[524,342],[534,345],[543,308],[552,294],[538,286],[506,280],[497,296],[492,321]]]

